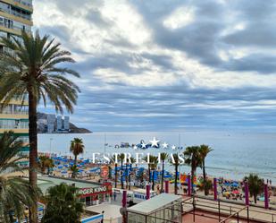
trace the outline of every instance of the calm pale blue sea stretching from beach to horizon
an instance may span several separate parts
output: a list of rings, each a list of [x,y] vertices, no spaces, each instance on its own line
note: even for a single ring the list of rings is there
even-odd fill
[[[154,137],[161,143],[183,147],[207,144],[213,151],[206,159],[207,173],[212,176],[224,176],[241,179],[248,173],[257,173],[263,178],[272,179],[276,184],[276,133],[225,133],[194,131],[185,133],[89,133],[89,134],[40,134],[38,150],[52,151],[58,154],[70,155],[70,141],[74,137],[83,139],[85,143],[84,158],[91,158],[92,152],[151,152],[161,149],[132,150],[114,149],[115,144],[129,142],[138,144],[140,140],[146,143]],[[105,147],[105,138],[108,146]],[[173,153],[175,150],[166,150]],[[171,167],[168,167],[171,168]],[[189,167],[180,167],[181,172],[188,172]],[[201,174],[201,169],[197,172]]]

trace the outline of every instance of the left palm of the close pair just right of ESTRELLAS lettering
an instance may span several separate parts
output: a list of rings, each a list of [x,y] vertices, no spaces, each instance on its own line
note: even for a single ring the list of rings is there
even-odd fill
[[[200,157],[199,146],[188,146],[183,152],[185,163],[191,167],[191,185],[192,193],[194,193],[194,177],[197,172],[197,167],[201,167],[202,161]]]

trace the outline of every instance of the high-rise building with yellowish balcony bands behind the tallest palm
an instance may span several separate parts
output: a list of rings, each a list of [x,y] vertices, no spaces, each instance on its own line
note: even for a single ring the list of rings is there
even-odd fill
[[[32,0],[0,0],[0,37],[21,40],[21,31],[31,32],[33,22]],[[0,44],[0,51],[4,47]],[[0,102],[1,103],[1,102]],[[21,101],[12,100],[0,112],[0,134],[12,130],[25,142],[22,151],[29,151],[28,101],[21,107]]]

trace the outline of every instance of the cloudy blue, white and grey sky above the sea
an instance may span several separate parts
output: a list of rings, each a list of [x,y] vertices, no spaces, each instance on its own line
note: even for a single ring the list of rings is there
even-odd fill
[[[75,124],[276,129],[274,0],[35,0],[34,7],[35,29],[77,61]]]

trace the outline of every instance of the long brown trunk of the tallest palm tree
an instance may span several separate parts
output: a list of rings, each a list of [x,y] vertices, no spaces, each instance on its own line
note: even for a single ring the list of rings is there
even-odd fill
[[[37,99],[29,89],[29,184],[37,186],[38,182],[38,126]],[[29,209],[29,222],[38,222],[38,204]]]

